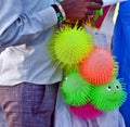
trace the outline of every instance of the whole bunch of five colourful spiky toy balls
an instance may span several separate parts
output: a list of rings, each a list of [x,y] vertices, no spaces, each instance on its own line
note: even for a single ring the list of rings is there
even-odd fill
[[[117,62],[106,49],[94,46],[92,35],[82,27],[56,30],[49,48],[54,62],[65,69],[60,89],[73,114],[95,118],[126,101]]]

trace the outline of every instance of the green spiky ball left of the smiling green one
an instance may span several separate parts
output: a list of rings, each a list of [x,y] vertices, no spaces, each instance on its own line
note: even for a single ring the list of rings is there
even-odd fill
[[[89,100],[91,85],[87,82],[77,72],[69,73],[62,86],[62,96],[65,103],[79,106]]]

